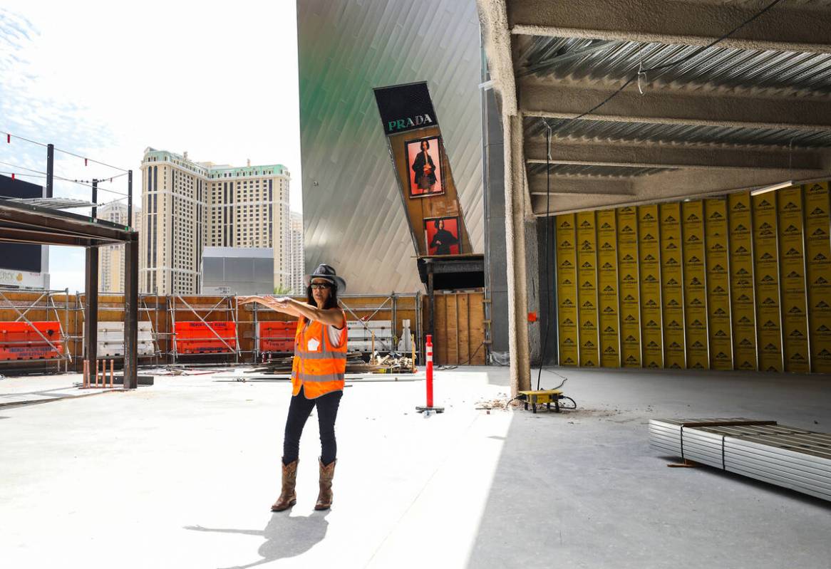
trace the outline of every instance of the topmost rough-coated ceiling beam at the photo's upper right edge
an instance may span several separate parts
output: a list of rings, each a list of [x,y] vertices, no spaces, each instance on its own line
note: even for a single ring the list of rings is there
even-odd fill
[[[709,44],[769,3],[770,0],[729,4],[673,0],[507,1],[509,27],[514,34],[691,46]],[[829,7],[779,2],[719,45],[831,53],[829,29]]]

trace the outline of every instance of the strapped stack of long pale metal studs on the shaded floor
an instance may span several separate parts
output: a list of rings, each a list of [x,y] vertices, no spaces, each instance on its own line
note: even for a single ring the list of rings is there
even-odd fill
[[[753,419],[651,419],[649,443],[708,464],[831,500],[831,434]]]

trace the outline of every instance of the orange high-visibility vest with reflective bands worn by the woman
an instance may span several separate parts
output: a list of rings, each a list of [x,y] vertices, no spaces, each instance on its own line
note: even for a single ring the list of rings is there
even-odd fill
[[[346,314],[343,317],[347,321]],[[347,326],[341,330],[340,346],[329,342],[327,324],[308,321],[300,316],[294,335],[292,362],[292,395],[303,393],[306,399],[315,399],[332,391],[343,390],[343,375],[347,371]]]

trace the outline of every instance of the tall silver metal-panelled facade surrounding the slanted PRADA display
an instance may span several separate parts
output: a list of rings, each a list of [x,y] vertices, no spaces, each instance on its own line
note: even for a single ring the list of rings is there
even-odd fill
[[[482,213],[482,57],[474,0],[297,0],[306,268],[350,292],[415,292],[416,252],[372,89],[427,81],[474,251]]]

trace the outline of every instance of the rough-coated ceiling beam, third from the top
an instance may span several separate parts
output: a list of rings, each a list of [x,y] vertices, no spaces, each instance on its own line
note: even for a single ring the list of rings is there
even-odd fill
[[[529,164],[545,164],[544,140],[526,141]],[[819,151],[754,148],[717,145],[661,145],[631,142],[578,142],[553,140],[551,164],[637,166],[643,168],[688,169],[822,169]]]

